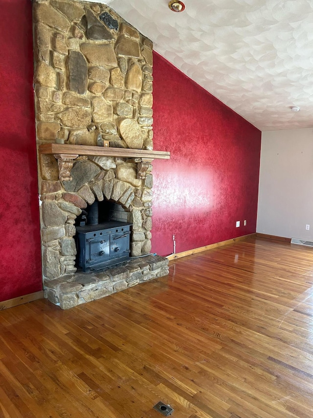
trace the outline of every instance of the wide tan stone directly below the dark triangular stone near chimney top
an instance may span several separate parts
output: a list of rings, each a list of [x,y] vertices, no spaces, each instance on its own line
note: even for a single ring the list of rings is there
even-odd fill
[[[117,67],[114,49],[111,44],[94,45],[84,43],[80,50],[86,56],[88,62],[100,67]]]

